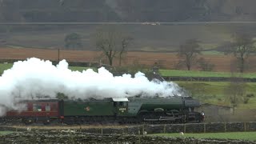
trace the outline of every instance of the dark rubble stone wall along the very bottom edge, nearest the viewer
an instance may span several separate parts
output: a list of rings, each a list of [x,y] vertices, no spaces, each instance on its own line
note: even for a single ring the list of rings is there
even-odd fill
[[[195,138],[167,138],[154,137],[145,135],[127,135],[127,134],[86,134],[81,132],[62,132],[60,130],[52,131],[34,131],[22,132],[7,135],[0,135],[0,143],[126,143],[126,144],[215,144],[215,143],[232,143],[232,144],[249,144],[256,142],[230,140],[230,139],[195,139]]]

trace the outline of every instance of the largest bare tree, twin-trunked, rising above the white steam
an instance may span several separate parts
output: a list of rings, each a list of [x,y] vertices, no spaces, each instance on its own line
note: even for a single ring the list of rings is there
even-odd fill
[[[102,27],[97,30],[94,35],[95,46],[102,50],[103,54],[108,59],[110,66],[113,65],[113,60],[118,54],[119,65],[121,65],[122,55],[125,53],[132,38],[125,36],[122,30],[117,27]]]

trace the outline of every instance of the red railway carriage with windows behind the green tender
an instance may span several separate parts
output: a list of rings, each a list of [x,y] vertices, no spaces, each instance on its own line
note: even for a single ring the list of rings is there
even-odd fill
[[[10,110],[6,113],[6,119],[22,119],[25,123],[50,122],[58,119],[59,109],[57,99],[30,100],[20,102],[23,110]]]

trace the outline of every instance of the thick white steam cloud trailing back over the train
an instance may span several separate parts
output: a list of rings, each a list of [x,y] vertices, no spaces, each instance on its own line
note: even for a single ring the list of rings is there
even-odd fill
[[[130,74],[113,76],[105,68],[72,71],[62,60],[57,66],[50,61],[29,58],[14,62],[10,70],[0,77],[0,106],[17,109],[17,99],[31,99],[42,96],[55,98],[57,93],[69,98],[113,98],[169,97],[179,94],[179,87],[173,82],[150,82],[138,72],[134,78]],[[0,108],[0,115],[3,113]]]

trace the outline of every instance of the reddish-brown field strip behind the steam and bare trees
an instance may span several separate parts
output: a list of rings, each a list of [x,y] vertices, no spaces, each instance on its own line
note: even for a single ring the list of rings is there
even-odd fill
[[[30,49],[30,48],[2,48],[0,49],[0,59],[26,59],[26,58],[42,58],[51,61],[58,61],[58,50],[46,50],[46,49]],[[217,54],[204,54],[203,58],[206,58],[211,63],[214,63],[214,71],[230,72],[230,63],[234,60],[232,55],[217,55]],[[92,50],[60,50],[59,58],[66,59],[68,62],[106,62],[105,58],[102,58],[101,52]],[[256,62],[256,58],[250,58],[250,62]],[[174,53],[164,52],[127,52],[126,58],[122,62],[122,66],[129,66],[137,64],[143,64],[147,66],[153,66],[154,62],[161,64],[162,68],[174,69],[175,63],[178,62],[178,58]],[[107,63],[107,62],[106,62]],[[118,64],[118,60],[114,65]],[[250,72],[255,71],[256,66],[250,65]],[[192,70],[196,70],[194,66]]]

